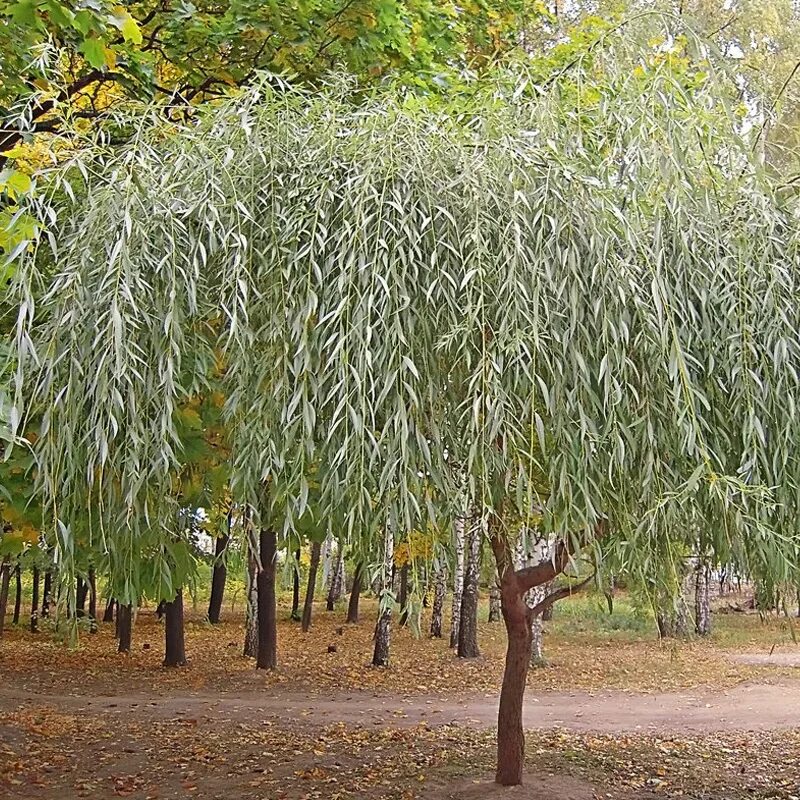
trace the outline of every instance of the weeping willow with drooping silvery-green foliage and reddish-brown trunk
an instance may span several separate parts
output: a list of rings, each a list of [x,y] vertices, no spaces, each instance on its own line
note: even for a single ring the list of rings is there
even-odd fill
[[[788,575],[795,210],[706,52],[629,40],[452,104],[264,76],[51,175],[17,402],[65,552],[78,524],[122,552],[174,526],[178,409],[214,364],[233,495],[281,541],[423,529],[466,488],[508,631],[503,784],[530,588],[601,546],[646,572],[698,524],[723,563]],[[553,556],[515,569],[533,508]]]

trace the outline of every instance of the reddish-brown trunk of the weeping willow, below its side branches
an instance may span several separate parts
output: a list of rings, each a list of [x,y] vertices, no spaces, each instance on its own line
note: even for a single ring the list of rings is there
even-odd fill
[[[500,708],[497,713],[497,773],[502,786],[522,783],[525,764],[525,732],[522,728],[522,705],[525,679],[531,652],[531,626],[525,600],[516,589],[516,581],[504,581],[501,591],[503,620],[508,634]]]

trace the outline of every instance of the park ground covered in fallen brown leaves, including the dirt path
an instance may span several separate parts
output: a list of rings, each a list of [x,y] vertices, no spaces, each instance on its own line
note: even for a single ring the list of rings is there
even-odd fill
[[[484,656],[471,662],[396,632],[393,666],[374,670],[369,603],[357,627],[315,613],[307,635],[281,623],[281,668],[268,675],[241,656],[233,618],[189,621],[182,670],[161,668],[148,610],[128,657],[111,626],[77,649],[7,631],[0,797],[494,797],[502,626],[481,625]],[[774,647],[789,661],[800,648],[787,621],[717,615],[712,641],[660,644],[647,630],[559,617],[550,666],[529,679],[527,788],[498,796],[800,797],[800,674],[734,658]]]

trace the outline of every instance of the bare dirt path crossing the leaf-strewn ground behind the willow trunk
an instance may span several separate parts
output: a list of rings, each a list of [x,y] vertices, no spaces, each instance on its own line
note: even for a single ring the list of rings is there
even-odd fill
[[[276,691],[248,691],[236,696],[203,693],[126,694],[112,697],[45,695],[0,688],[0,712],[49,706],[126,721],[194,719],[209,722],[276,722],[318,727],[342,722],[370,727],[408,727],[427,722],[489,727],[495,724],[497,698],[465,695],[398,697],[367,692],[335,696]],[[800,727],[800,681],[742,684],[726,691],[668,694],[629,692],[529,691],[525,703],[528,729],[565,728],[577,732],[686,733],[724,730],[773,730]]]

